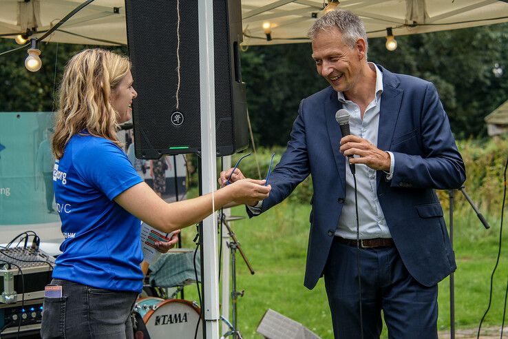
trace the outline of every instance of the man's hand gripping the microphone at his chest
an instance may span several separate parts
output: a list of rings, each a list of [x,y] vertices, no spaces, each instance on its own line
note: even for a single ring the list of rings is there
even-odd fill
[[[390,154],[379,150],[359,136],[348,135],[341,138],[340,152],[344,156],[359,156],[359,158],[349,158],[349,163],[363,163],[372,170],[390,171]]]

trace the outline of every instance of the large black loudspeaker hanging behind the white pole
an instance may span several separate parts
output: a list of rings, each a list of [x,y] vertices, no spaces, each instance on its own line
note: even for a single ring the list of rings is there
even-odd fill
[[[199,2],[125,0],[137,158],[201,152]],[[241,42],[240,0],[213,0],[217,156],[248,146]]]

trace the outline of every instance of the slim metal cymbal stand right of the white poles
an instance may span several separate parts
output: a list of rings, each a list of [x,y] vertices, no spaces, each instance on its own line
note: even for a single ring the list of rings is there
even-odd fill
[[[234,218],[234,217],[233,217]],[[233,336],[234,339],[242,339],[242,334],[240,333],[240,330],[237,329],[237,300],[238,297],[244,296],[245,291],[242,290],[241,292],[236,290],[236,251],[238,250],[240,252],[240,255],[244,259],[245,265],[247,265],[248,270],[251,271],[251,274],[254,274],[254,270],[251,267],[251,264],[248,263],[248,259],[244,254],[244,251],[242,251],[242,247],[240,246],[240,243],[238,242],[235,232],[229,227],[228,218],[224,214],[222,214],[222,223],[228,230],[228,234],[231,237],[231,242],[227,243],[227,246],[231,250],[231,312],[232,312],[232,320],[233,323],[230,323],[228,320],[224,319],[224,317],[221,317],[222,321],[226,323],[226,325],[229,327],[229,331],[224,333],[224,335],[221,337],[226,338],[227,336]]]

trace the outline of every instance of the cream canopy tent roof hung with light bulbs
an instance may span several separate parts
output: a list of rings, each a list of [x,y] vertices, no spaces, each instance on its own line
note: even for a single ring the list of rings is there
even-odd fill
[[[336,0],[335,0],[336,1]],[[49,30],[83,0],[2,0],[0,36]],[[191,1],[189,1],[191,2]],[[328,1],[326,1],[328,2]],[[148,3],[148,2],[147,2]],[[186,2],[182,1],[182,5]],[[195,1],[192,1],[196,10]],[[369,37],[452,30],[508,21],[508,0],[343,0],[339,8],[359,14]],[[245,45],[308,42],[306,32],[323,13],[319,0],[242,0]],[[271,41],[262,23],[270,21]],[[154,32],[148,39],[157,39]],[[47,41],[125,45],[125,3],[96,0],[64,23]]]

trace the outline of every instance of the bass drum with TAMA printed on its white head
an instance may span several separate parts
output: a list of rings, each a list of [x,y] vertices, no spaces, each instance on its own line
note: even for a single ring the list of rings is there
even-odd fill
[[[199,307],[182,299],[140,298],[134,311],[143,318],[151,339],[194,339],[200,319]],[[196,338],[202,336],[200,322]]]

